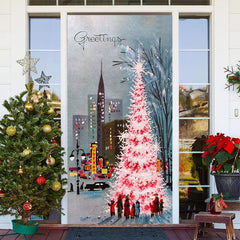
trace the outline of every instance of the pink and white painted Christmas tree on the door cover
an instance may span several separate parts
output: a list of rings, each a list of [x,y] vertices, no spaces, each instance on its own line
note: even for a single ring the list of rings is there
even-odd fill
[[[161,173],[157,171],[158,147],[151,132],[150,112],[142,81],[144,67],[139,58],[133,70],[136,80],[131,92],[129,128],[121,135],[124,144],[111,196],[117,200],[119,195],[129,195],[130,203],[140,201],[141,213],[150,213],[154,194],[163,199],[164,207],[168,201]]]

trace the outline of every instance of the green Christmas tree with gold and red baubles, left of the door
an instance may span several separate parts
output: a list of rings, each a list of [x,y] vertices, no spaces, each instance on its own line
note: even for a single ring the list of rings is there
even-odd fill
[[[45,91],[33,90],[31,78],[26,91],[3,104],[8,114],[0,121],[0,214],[21,217],[24,224],[32,215],[62,210],[64,149],[50,104]]]

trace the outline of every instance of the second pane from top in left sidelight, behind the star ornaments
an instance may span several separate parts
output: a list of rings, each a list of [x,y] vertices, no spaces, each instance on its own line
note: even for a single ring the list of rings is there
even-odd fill
[[[38,73],[31,73],[33,79],[39,78],[43,71],[46,76],[51,76],[50,84],[60,83],[60,52],[31,52],[31,57],[40,58],[36,65]]]

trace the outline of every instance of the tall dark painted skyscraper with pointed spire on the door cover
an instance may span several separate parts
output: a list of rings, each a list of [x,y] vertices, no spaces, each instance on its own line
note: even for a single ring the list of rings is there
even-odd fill
[[[102,77],[102,61],[101,61],[101,74],[98,83],[98,97],[97,97],[97,143],[99,156],[102,155],[102,134],[104,123],[105,123],[105,92]]]

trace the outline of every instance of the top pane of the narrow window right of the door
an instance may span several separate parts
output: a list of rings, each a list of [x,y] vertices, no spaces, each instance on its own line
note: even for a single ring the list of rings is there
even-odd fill
[[[208,49],[208,19],[181,18],[179,21],[180,49]]]

